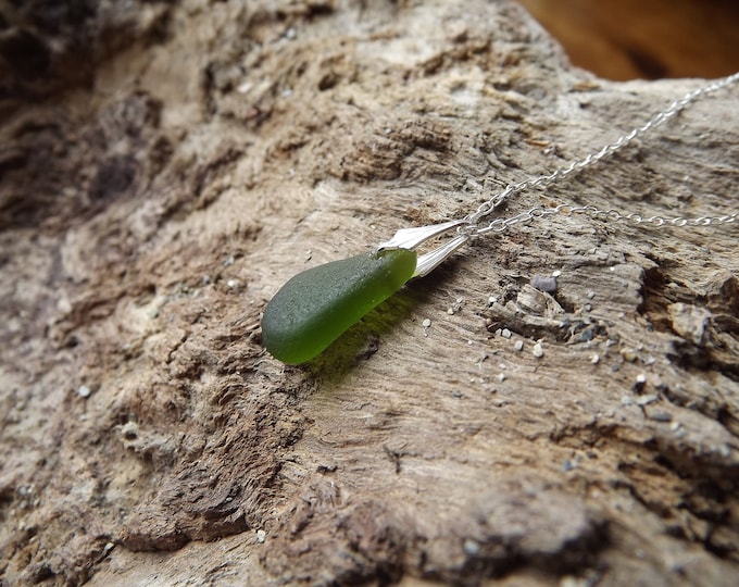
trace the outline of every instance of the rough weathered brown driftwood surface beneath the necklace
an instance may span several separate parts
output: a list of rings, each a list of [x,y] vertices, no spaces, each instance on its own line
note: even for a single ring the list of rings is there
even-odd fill
[[[130,4],[5,86],[2,580],[736,584],[735,228],[539,222],[308,366],[259,332],[700,82],[596,79],[506,1]],[[737,91],[504,213],[736,210]]]

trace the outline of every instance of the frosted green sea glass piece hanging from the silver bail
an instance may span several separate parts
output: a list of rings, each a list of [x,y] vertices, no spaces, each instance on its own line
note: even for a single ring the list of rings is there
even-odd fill
[[[264,309],[264,347],[284,363],[310,361],[398,291],[415,270],[415,251],[394,249],[367,252],[299,273]]]

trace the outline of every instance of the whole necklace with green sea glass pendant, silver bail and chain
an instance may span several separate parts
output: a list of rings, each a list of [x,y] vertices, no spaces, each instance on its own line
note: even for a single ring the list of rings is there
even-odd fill
[[[553,208],[538,205],[514,216],[486,220],[510,197],[527,190],[546,190],[583,170],[598,165],[600,161],[630,145],[703,96],[718,91],[739,82],[739,72],[711,82],[675,100],[642,126],[621,136],[614,142],[584,159],[575,160],[548,175],[509,184],[466,216],[414,228],[402,228],[375,250],[333,261],[305,270],[289,279],[264,309],[262,339],[265,348],[278,360],[299,364],[318,355],[345,330],[367,312],[388,299],[413,277],[422,277],[434,271],[447,258],[467,241],[488,233],[503,233],[513,226],[554,214],[583,214],[611,223],[627,223],[651,227],[660,226],[713,226],[737,221],[739,212],[718,216],[643,217],[637,213],[602,210],[594,205],[568,203]],[[418,255],[416,248],[430,238],[456,230],[448,242]]]

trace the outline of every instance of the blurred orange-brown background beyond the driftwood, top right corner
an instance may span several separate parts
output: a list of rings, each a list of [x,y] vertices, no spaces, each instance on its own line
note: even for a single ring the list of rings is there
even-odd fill
[[[518,0],[571,61],[609,79],[739,71],[739,0]]]

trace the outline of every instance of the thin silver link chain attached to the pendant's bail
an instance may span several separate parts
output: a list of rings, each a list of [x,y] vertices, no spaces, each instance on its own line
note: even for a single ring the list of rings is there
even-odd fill
[[[709,226],[729,224],[736,222],[737,215],[739,214],[737,212],[722,216],[701,216],[696,218],[687,218],[682,216],[664,217],[660,215],[642,217],[640,214],[636,213],[624,214],[622,212],[618,212],[617,210],[600,210],[593,205],[578,207],[572,204],[560,204],[555,208],[535,207],[515,216],[511,216],[508,218],[496,218],[487,224],[480,223],[480,220],[491,214],[493,210],[497,207],[499,207],[510,196],[529,189],[546,189],[554,183],[558,183],[566,177],[569,177],[581,172],[585,168],[598,164],[602,159],[612,155],[613,153],[623,149],[627,145],[630,145],[635,139],[642,137],[643,135],[647,135],[657,126],[664,124],[666,121],[678,114],[686,107],[690,105],[702,96],[730,86],[736,82],[739,82],[739,72],[727,77],[716,79],[710,84],[701,86],[700,88],[686,93],[682,98],[675,100],[665,110],[652,116],[652,118],[650,118],[642,126],[632,129],[630,133],[626,135],[622,135],[614,142],[606,145],[601,150],[596,151],[594,153],[590,153],[584,159],[575,160],[568,165],[560,167],[559,170],[548,175],[540,175],[539,177],[525,179],[516,184],[509,184],[505,187],[505,189],[496,193],[489,200],[483,202],[474,213],[468,214],[464,218],[465,225],[460,227],[460,232],[468,235],[469,237],[477,237],[485,235],[487,233],[502,233],[510,228],[511,226],[528,223],[531,222],[533,220],[540,218],[543,216],[550,216],[553,214],[563,215],[587,214],[588,216],[597,220],[605,220],[610,222],[623,222],[632,225],[648,225],[648,226],[663,226],[663,225]]]

